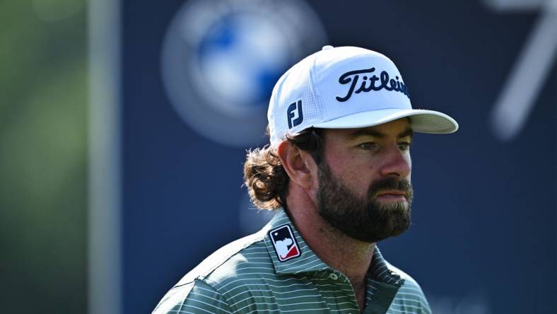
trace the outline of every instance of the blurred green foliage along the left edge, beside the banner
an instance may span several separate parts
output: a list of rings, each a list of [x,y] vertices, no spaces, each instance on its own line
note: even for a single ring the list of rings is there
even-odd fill
[[[0,2],[3,313],[86,309],[83,0]]]

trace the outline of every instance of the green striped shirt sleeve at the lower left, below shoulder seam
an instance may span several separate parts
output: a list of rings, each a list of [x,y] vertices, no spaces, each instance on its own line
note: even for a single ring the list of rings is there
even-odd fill
[[[170,289],[153,314],[232,313],[226,299],[213,287],[196,280]]]

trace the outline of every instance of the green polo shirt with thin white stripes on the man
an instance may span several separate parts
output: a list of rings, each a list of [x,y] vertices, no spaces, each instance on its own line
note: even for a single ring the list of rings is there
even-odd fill
[[[289,227],[290,233],[285,233],[284,226]],[[285,255],[279,257],[284,251],[277,249],[278,241],[271,236],[278,235],[274,231],[279,229],[283,234],[291,234],[298,245],[286,259]],[[170,289],[153,311],[271,312],[360,313],[348,278],[315,255],[283,209],[258,233],[225,245],[207,257]],[[431,313],[431,310],[416,281],[385,261],[375,247],[363,313]]]

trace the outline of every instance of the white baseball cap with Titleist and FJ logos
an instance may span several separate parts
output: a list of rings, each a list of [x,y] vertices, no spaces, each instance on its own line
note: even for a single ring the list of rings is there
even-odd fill
[[[292,66],[274,86],[267,112],[271,146],[309,127],[373,127],[402,117],[409,117],[415,132],[458,129],[442,112],[412,109],[397,66],[359,47],[325,46]]]

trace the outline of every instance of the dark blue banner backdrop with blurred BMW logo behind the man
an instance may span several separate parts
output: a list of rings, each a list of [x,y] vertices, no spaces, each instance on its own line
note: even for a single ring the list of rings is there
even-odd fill
[[[242,188],[245,150],[266,141],[274,80],[322,45],[387,54],[414,107],[460,124],[416,136],[414,223],[379,244],[387,260],[435,313],[556,313],[555,64],[500,140],[490,115],[541,9],[488,2],[123,1],[125,313],[150,313],[264,224]]]

